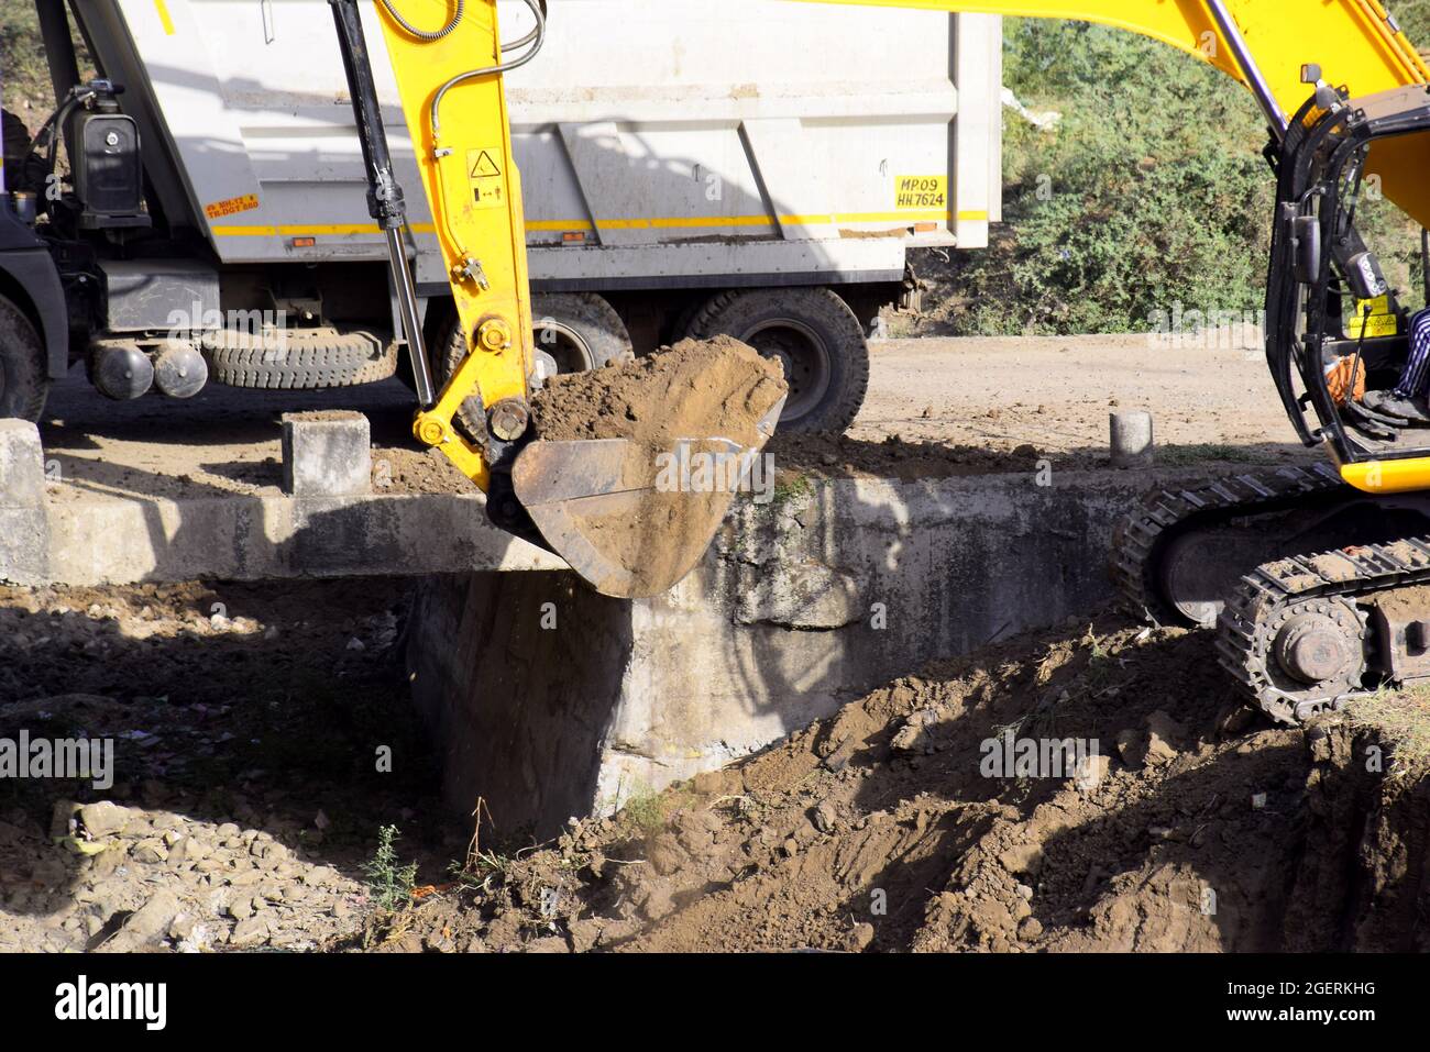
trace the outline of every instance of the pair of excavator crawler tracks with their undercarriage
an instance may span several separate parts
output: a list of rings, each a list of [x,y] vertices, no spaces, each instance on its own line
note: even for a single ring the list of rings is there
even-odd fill
[[[1430,676],[1430,495],[1370,496],[1326,465],[1155,490],[1115,532],[1113,577],[1134,616],[1216,629],[1283,722]]]

